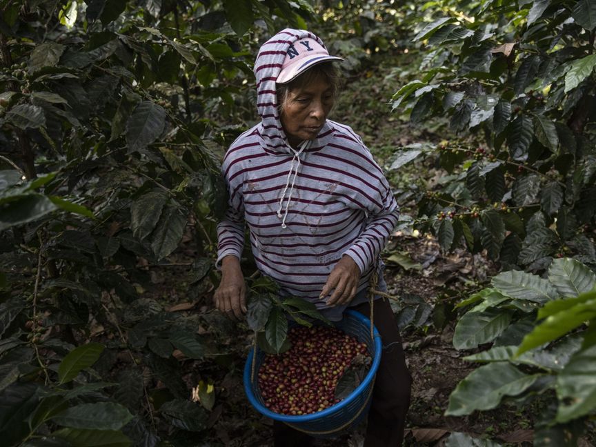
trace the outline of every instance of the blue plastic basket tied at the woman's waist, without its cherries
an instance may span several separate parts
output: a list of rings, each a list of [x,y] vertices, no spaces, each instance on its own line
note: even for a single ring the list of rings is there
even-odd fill
[[[259,390],[258,371],[263,363],[265,353],[257,349],[255,374],[252,375],[253,351],[250,350],[244,366],[244,391],[250,404],[259,413],[276,421],[285,422],[288,426],[314,437],[337,436],[357,426],[364,419],[368,413],[370,398],[373,395],[375,375],[379,368],[379,361],[381,361],[381,335],[379,335],[377,328],[374,328],[374,337],[371,340],[370,320],[355,310],[347,310],[344,319],[335,323],[335,327],[355,337],[360,343],[364,342],[368,354],[373,358],[373,364],[361,384],[344,400],[317,413],[299,416],[273,413],[264,405],[261,390]],[[250,380],[251,375],[255,379],[254,382]]]

